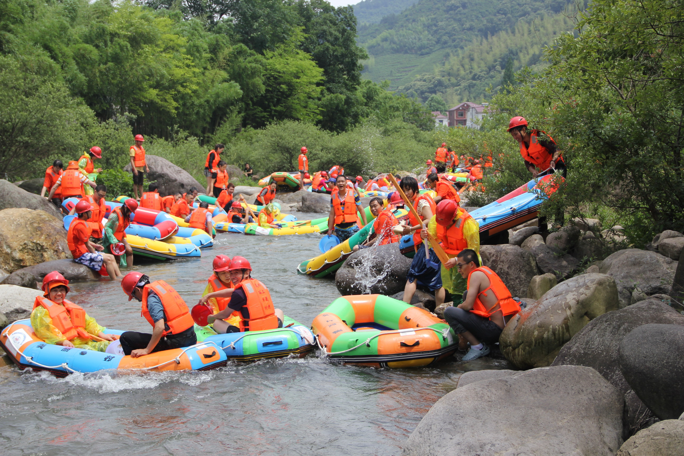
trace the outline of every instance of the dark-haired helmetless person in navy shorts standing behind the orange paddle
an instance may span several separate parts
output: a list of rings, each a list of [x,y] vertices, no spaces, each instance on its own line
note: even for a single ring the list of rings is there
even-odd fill
[[[440,275],[440,267],[434,269],[425,260],[425,245],[423,239],[421,239],[421,229],[425,222],[430,221],[434,213],[436,212],[436,204],[432,200],[432,197],[425,193],[423,195],[418,193],[418,181],[415,178],[406,176],[399,183],[399,187],[402,187],[406,198],[413,203],[413,209],[416,210],[421,219],[416,219],[413,213],[408,213],[408,225],[399,225],[394,228],[395,234],[401,234],[402,236],[406,234],[413,233],[413,248],[415,250],[415,255],[411,262],[411,267],[408,269],[408,274],[406,274],[406,285],[404,286],[404,302],[409,303],[413,295],[416,292],[417,285],[420,283],[427,286],[430,291],[434,291],[434,299],[436,305],[439,306],[444,302],[445,291],[442,286],[442,276]],[[430,261],[439,265],[439,258],[437,254],[430,248],[428,250],[430,254]]]

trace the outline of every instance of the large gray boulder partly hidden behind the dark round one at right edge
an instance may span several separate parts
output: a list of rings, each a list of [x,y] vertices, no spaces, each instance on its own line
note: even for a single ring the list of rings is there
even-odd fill
[[[613,310],[596,317],[566,343],[553,360],[552,366],[573,364],[599,371],[611,385],[624,394],[628,422],[632,431],[647,423],[653,414],[627,383],[620,371],[618,349],[624,336],[635,327],[648,323],[684,326],[684,316],[656,299],[638,302],[624,309]]]

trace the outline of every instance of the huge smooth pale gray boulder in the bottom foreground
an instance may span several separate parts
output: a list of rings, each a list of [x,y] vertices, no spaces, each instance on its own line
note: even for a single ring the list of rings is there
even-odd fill
[[[402,454],[613,456],[622,407],[622,394],[592,368],[536,368],[449,392]]]

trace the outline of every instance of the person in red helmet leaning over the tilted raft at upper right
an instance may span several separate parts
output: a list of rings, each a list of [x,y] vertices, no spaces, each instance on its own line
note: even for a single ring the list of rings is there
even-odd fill
[[[555,171],[560,171],[563,177],[566,176],[567,169],[562,152],[545,131],[527,129],[527,120],[522,116],[516,116],[508,123],[508,133],[520,144],[520,155],[523,156],[525,167],[532,173],[533,178],[553,174]]]

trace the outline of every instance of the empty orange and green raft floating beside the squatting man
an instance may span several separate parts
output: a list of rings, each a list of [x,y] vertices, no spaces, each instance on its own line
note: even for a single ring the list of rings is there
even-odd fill
[[[318,314],[311,329],[321,354],[345,364],[427,366],[458,348],[447,323],[384,295],[339,297]]]

